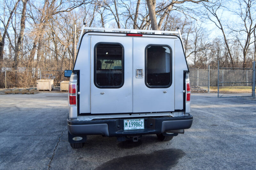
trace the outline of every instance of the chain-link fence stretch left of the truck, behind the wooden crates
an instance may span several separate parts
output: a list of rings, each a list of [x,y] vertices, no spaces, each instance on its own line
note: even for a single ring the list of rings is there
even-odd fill
[[[69,80],[64,77],[64,70],[2,70],[0,71],[0,88],[34,88],[38,79],[53,79],[54,86]]]

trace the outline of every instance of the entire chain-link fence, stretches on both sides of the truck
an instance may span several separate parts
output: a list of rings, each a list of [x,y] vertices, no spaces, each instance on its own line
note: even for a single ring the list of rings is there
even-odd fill
[[[218,70],[208,66],[206,69],[189,68],[189,71],[192,92],[216,92],[218,97],[245,97],[255,93],[253,68]],[[38,79],[53,79],[54,86],[60,86],[61,81],[69,80],[64,77],[64,70],[2,70],[0,88],[34,88]]]

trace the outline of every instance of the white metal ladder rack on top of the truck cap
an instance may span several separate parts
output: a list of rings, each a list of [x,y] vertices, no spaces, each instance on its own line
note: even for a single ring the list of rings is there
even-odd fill
[[[178,27],[177,30],[178,31],[160,31],[160,30],[136,30],[136,29],[121,29],[121,28],[96,28],[96,27],[85,27],[85,23],[82,27],[82,31],[79,37],[79,41],[77,43],[77,49],[79,48],[79,44],[81,41],[81,38],[83,36],[84,30],[87,31],[100,31],[100,32],[113,32],[113,33],[117,33],[117,32],[123,32],[123,33],[151,33],[151,34],[178,34],[180,39],[181,39],[181,43],[183,45],[184,48],[184,44],[181,38],[181,33],[180,33],[180,28]],[[184,48],[185,51],[185,48]]]

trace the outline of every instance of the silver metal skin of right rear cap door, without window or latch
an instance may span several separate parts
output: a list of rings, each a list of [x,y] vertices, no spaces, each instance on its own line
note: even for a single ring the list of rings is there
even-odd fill
[[[174,83],[168,88],[148,88],[145,85],[145,48],[148,45],[167,45],[173,49],[174,41],[168,38],[133,37],[133,113],[174,111]],[[136,69],[144,70],[143,78],[136,78]],[[173,82],[174,61],[171,73]]]

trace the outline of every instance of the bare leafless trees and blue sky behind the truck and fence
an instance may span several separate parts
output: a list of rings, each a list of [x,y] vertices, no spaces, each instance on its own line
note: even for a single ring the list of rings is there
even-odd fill
[[[180,27],[190,67],[252,67],[256,0],[3,0],[0,71],[72,69],[81,28],[174,31]],[[76,30],[75,30],[76,25]],[[77,36],[74,36],[76,33]],[[76,40],[74,39],[76,37]],[[16,74],[10,75],[17,80]],[[58,80],[63,77],[60,73]],[[57,82],[58,82],[57,80]],[[19,86],[19,82],[13,83]]]

